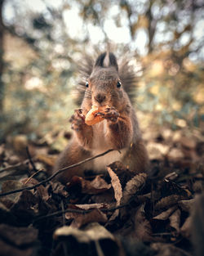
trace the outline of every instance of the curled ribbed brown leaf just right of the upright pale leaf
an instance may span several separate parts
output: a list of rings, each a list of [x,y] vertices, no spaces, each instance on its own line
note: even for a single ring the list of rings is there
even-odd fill
[[[122,195],[122,204],[126,204],[130,198],[135,195],[137,191],[140,190],[140,187],[144,185],[146,181],[147,174],[146,173],[139,173],[132,177],[129,182],[126,183],[126,186],[123,191]]]

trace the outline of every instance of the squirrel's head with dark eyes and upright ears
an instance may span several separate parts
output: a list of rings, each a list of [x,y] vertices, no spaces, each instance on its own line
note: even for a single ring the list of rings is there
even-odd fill
[[[86,81],[86,102],[94,106],[122,104],[124,91],[118,74],[118,63],[113,53],[104,52],[95,61],[90,77]]]

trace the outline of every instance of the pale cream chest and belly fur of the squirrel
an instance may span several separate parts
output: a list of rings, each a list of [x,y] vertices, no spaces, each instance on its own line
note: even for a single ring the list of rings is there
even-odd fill
[[[107,120],[95,124],[93,128],[93,146],[91,150],[91,155],[98,155],[103,153],[105,150],[111,149],[111,144],[107,141],[106,133],[108,132]],[[105,170],[106,166],[115,162],[122,161],[124,155],[126,155],[126,148],[120,150],[114,150],[107,155],[104,155],[100,158],[94,159],[92,168],[97,171]]]

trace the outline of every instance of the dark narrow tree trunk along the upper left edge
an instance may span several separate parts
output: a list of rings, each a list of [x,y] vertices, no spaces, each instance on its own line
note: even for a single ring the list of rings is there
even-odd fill
[[[2,5],[4,0],[0,0],[0,116],[3,112],[4,84],[2,81],[3,73],[3,23],[2,23]]]

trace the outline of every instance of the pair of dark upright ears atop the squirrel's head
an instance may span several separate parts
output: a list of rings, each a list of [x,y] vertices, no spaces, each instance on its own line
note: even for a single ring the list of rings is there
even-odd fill
[[[95,61],[95,66],[100,66],[103,68],[114,66],[116,70],[118,70],[118,63],[112,52],[104,52],[98,56],[97,60]]]

